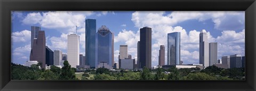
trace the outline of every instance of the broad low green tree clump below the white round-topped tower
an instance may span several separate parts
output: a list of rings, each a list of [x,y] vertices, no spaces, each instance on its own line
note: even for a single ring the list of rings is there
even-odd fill
[[[216,77],[212,77],[204,72],[190,73],[188,76],[182,78],[182,80],[217,80]]]

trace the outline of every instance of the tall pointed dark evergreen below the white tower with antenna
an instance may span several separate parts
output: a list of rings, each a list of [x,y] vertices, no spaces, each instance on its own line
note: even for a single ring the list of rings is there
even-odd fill
[[[77,80],[74,70],[71,69],[68,61],[64,61],[61,68],[60,80]]]

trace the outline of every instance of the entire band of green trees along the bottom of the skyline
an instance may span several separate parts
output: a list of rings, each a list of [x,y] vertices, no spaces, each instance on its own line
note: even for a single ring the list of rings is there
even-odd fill
[[[75,68],[71,68],[68,61],[60,69],[51,66],[51,69],[39,69],[40,63],[26,67],[12,63],[12,80],[78,80]],[[200,68],[171,67],[169,69],[157,68],[142,70],[109,70],[107,68],[87,69],[81,80],[243,80],[244,68],[223,69],[216,66]]]

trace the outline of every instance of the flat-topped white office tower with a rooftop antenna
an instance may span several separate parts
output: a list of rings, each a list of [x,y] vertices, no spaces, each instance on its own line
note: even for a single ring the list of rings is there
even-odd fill
[[[68,62],[71,67],[79,65],[79,35],[68,35]]]

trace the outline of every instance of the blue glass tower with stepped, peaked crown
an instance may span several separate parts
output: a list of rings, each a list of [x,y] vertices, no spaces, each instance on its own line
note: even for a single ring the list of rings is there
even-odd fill
[[[101,67],[100,63],[105,62],[106,67],[112,67],[112,55],[113,55],[113,33],[105,26],[102,25],[97,32],[97,40],[96,40],[96,47],[97,47],[97,58],[96,64],[97,68]],[[103,65],[102,65],[103,66]],[[111,69],[111,68],[109,68]]]

